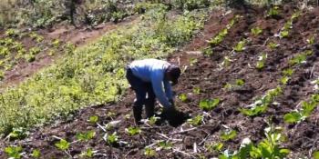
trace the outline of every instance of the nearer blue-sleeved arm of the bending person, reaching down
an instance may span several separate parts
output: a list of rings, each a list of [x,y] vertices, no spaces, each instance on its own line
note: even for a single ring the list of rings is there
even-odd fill
[[[152,73],[150,80],[153,87],[154,94],[164,107],[168,108],[171,106],[169,99],[163,91],[163,78],[164,74],[161,70],[156,70]]]

